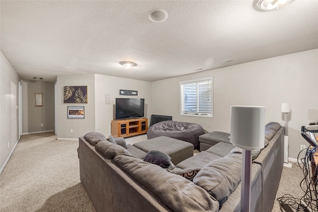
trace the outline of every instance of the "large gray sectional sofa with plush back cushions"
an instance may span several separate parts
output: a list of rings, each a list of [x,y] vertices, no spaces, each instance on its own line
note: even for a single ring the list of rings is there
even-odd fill
[[[271,211],[283,167],[284,128],[266,127],[266,147],[253,154],[253,212]],[[140,151],[123,140],[79,138],[80,180],[97,212],[240,211],[239,148],[219,142],[172,170],[143,161]]]

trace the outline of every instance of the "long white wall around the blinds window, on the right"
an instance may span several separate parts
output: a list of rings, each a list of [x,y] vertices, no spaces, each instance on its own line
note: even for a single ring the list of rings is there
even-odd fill
[[[230,133],[231,105],[266,106],[266,122],[284,125],[281,103],[291,103],[289,157],[308,145],[301,126],[318,120],[318,50],[310,50],[152,83],[154,114],[199,123],[206,131]],[[179,82],[213,76],[214,118],[179,115]]]

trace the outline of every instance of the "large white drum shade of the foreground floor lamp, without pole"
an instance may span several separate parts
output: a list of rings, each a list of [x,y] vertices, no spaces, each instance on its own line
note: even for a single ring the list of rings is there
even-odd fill
[[[264,148],[265,107],[231,106],[231,142],[242,149]]]

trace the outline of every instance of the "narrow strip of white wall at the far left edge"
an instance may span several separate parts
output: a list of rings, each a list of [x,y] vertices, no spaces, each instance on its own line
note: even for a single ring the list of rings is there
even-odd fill
[[[0,52],[0,172],[19,139],[19,76]]]

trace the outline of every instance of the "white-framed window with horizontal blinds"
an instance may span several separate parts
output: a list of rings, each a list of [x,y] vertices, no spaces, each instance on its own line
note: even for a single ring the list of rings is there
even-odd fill
[[[180,82],[180,115],[213,117],[213,77]]]

